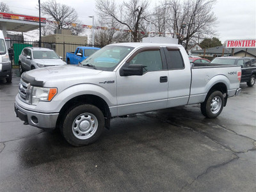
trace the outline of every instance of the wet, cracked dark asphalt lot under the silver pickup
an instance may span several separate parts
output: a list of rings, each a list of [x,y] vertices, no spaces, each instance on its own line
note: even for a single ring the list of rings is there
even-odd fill
[[[256,85],[216,119],[198,105],[115,118],[96,143],[23,125],[0,81],[0,191],[255,191]]]

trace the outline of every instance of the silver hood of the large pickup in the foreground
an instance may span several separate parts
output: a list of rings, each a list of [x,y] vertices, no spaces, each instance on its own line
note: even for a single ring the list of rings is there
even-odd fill
[[[22,74],[22,78],[33,85],[33,82],[35,81],[40,81],[42,83],[47,81],[63,81],[64,79],[69,79],[70,81],[82,81],[92,76],[96,76],[100,72],[102,72],[102,70],[63,65],[60,67],[44,67],[29,70]]]

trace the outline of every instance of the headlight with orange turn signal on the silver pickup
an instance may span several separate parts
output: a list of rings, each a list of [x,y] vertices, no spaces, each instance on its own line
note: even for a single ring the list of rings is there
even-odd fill
[[[57,88],[33,86],[31,104],[36,105],[40,101],[51,101],[56,94]]]

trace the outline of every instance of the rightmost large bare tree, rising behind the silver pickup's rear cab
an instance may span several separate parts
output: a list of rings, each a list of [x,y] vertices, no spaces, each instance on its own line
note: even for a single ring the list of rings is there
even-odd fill
[[[185,49],[193,38],[214,35],[216,17],[212,6],[216,0],[169,0],[166,2],[170,14],[169,30],[173,38],[179,39]]]

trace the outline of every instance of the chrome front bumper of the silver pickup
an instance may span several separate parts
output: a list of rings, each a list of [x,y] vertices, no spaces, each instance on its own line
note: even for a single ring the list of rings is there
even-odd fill
[[[38,128],[55,129],[59,113],[37,113],[21,108],[17,103],[14,104],[14,110],[17,117]]]

